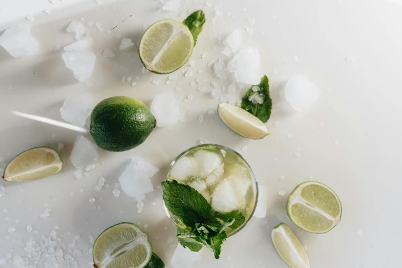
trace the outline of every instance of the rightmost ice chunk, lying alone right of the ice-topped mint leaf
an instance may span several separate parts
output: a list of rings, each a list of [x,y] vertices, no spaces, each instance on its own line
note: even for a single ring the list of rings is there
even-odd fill
[[[285,87],[285,99],[296,111],[304,111],[320,97],[320,89],[307,75],[292,76]]]

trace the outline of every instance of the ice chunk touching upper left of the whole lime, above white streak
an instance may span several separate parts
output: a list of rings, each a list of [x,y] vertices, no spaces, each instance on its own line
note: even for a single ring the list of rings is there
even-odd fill
[[[91,114],[93,99],[88,92],[70,97],[64,101],[60,113],[62,118],[75,126],[83,127]]]

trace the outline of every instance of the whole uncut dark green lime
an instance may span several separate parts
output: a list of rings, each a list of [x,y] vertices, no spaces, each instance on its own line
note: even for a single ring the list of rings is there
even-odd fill
[[[102,149],[126,151],[143,143],[155,125],[155,117],[143,102],[117,96],[95,106],[89,131]]]

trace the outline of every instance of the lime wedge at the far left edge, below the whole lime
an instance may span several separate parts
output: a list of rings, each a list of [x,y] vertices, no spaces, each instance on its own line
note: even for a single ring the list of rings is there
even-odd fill
[[[4,169],[5,181],[33,181],[58,173],[63,168],[59,152],[36,147],[16,156]]]

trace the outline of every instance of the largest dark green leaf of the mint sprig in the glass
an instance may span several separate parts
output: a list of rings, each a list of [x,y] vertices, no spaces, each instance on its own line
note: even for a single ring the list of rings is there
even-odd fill
[[[194,227],[215,218],[212,207],[196,189],[177,181],[163,181],[162,188],[167,209],[184,224]]]

